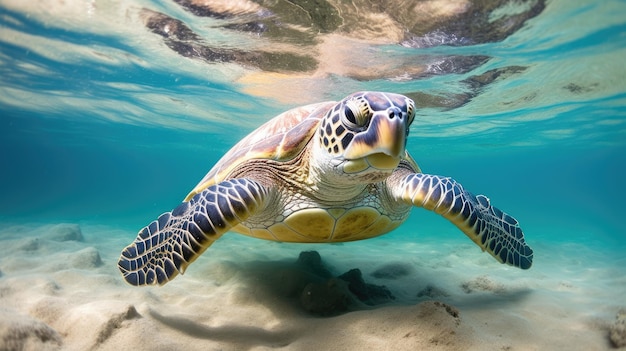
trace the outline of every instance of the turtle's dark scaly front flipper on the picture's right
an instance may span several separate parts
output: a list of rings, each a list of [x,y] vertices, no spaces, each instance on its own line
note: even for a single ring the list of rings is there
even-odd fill
[[[454,179],[412,173],[400,180],[394,195],[444,216],[498,261],[522,269],[532,265],[533,250],[517,220],[491,206],[484,195],[466,191]]]

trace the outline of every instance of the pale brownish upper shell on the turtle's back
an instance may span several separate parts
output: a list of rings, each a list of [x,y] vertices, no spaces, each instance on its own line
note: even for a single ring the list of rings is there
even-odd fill
[[[246,161],[293,159],[309,143],[320,121],[335,104],[328,101],[301,106],[267,121],[235,144],[185,197],[185,201],[227,179],[233,169]]]

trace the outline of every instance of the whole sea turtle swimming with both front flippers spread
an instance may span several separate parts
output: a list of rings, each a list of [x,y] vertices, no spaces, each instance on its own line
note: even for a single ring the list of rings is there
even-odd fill
[[[421,172],[405,150],[414,117],[413,100],[383,92],[278,115],[139,231],[118,262],[124,279],[165,284],[229,230],[284,242],[360,240],[395,229],[413,206],[443,215],[498,261],[530,268],[517,220],[452,178]]]

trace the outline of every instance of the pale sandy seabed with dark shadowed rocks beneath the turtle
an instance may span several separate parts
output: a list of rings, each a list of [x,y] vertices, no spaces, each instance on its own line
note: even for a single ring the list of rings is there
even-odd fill
[[[184,276],[137,288],[116,268],[134,237],[4,225],[0,350],[626,349],[626,258],[582,244],[531,240],[535,265],[521,271],[462,235],[298,245],[229,234]],[[354,268],[362,280],[338,278]]]

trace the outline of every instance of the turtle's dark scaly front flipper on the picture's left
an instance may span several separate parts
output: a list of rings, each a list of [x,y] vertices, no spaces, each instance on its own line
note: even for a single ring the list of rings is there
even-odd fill
[[[212,185],[139,231],[118,268],[132,285],[163,285],[233,226],[264,207],[267,189],[247,179]]]

